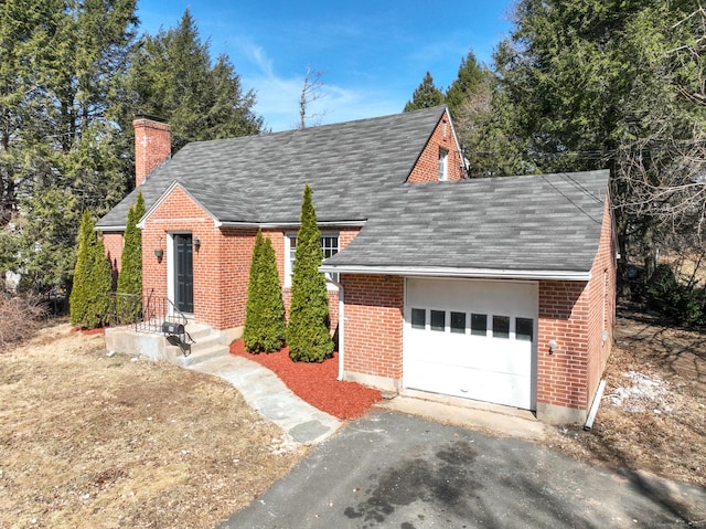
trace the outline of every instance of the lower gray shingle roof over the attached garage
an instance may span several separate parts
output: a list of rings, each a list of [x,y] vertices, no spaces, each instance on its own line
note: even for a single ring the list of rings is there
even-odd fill
[[[609,171],[404,184],[381,197],[335,267],[588,272]]]

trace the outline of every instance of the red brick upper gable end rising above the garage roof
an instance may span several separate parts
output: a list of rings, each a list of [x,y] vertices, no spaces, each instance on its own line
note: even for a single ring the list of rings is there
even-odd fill
[[[446,125],[446,135],[443,128]],[[453,130],[448,115],[445,113],[434,134],[429,138],[427,146],[421,151],[417,163],[409,173],[407,181],[409,182],[436,182],[439,180],[439,149],[446,149],[447,157],[447,179],[460,180],[463,178],[461,172],[461,154],[459,152]]]

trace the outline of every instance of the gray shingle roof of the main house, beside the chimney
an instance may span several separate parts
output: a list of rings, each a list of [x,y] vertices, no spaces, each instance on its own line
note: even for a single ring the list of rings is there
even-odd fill
[[[149,210],[173,181],[222,222],[299,221],[304,183],[320,222],[364,220],[403,183],[443,106],[286,133],[186,145],[141,187]],[[97,224],[124,226],[133,191]]]

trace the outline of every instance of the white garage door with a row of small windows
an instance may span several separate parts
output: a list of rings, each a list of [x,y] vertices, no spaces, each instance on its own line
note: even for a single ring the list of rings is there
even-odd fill
[[[405,388],[535,409],[537,284],[407,279]]]

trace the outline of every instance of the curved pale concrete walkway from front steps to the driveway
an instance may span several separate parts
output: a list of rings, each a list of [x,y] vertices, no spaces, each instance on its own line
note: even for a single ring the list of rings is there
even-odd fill
[[[189,369],[233,384],[250,408],[281,427],[295,443],[320,443],[341,426],[341,421],[299,399],[269,369],[247,358],[226,355]]]

